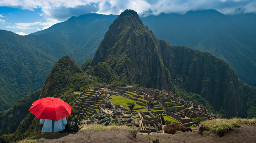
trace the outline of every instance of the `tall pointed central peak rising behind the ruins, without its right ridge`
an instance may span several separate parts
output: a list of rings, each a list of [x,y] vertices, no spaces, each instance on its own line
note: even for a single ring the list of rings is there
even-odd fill
[[[125,10],[109,26],[92,61],[106,62],[123,82],[175,92],[173,80],[159,55],[159,40],[144,26],[137,12]]]

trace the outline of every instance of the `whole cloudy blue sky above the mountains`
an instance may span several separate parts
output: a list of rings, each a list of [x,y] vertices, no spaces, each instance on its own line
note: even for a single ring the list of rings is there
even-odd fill
[[[256,0],[0,0],[0,29],[27,35],[71,16],[119,15],[125,9],[133,9],[143,17],[203,9],[223,14],[256,13]]]

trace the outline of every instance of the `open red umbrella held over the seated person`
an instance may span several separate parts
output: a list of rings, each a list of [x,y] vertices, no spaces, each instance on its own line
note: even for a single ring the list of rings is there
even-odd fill
[[[72,107],[60,98],[46,97],[34,101],[29,111],[38,119],[59,120],[70,116]]]

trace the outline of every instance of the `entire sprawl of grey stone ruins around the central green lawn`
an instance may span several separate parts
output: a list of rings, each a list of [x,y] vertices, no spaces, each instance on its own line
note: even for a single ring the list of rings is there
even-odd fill
[[[136,95],[133,95],[133,97],[128,97],[127,95],[125,95],[126,91],[136,93]],[[93,94],[93,96],[89,96],[89,93]],[[95,95],[96,93],[98,95]],[[83,117],[84,119],[87,119],[87,124],[97,123],[104,125],[126,125],[134,128],[135,130],[138,130],[139,132],[150,133],[158,132],[159,130],[161,130],[160,118],[155,114],[162,114],[163,111],[166,113],[167,116],[181,122],[180,124],[186,126],[195,125],[192,122],[192,119],[195,117],[200,117],[205,120],[212,119],[210,113],[206,108],[200,107],[198,103],[185,101],[178,95],[168,91],[160,91],[157,89],[141,87],[115,87],[111,90],[106,91],[103,94],[104,97],[100,96],[102,95],[101,92],[84,91],[82,92],[82,94],[83,96],[80,96],[80,99],[75,101],[75,108],[83,112],[81,113],[81,115],[85,114],[86,117]],[[89,97],[85,97],[84,95]],[[110,103],[107,98],[108,95],[124,96],[126,98],[135,100],[135,102],[139,105],[145,105],[147,103],[140,100],[144,97],[143,99],[146,101],[151,100],[155,101],[154,103],[160,104],[161,106],[158,108],[161,108],[163,110],[161,111],[161,113],[151,113],[150,111],[140,111],[138,113],[137,111],[128,111],[120,105],[113,105],[112,103]],[[143,95],[143,97],[139,95]],[[86,100],[85,103],[82,101],[83,99]],[[82,108],[80,108],[79,106],[82,106]],[[87,110],[85,110],[85,106],[88,108]],[[96,111],[94,112],[95,115],[93,115],[90,110],[93,110],[92,108],[95,108],[95,106],[97,106],[99,112]],[[171,111],[166,111],[166,108],[171,108]],[[111,114],[105,113],[105,109],[111,109],[113,110],[113,112]],[[142,118],[138,115],[142,116]],[[142,122],[144,128],[141,128],[139,122]],[[168,120],[166,120],[166,123],[171,124],[171,122]]]

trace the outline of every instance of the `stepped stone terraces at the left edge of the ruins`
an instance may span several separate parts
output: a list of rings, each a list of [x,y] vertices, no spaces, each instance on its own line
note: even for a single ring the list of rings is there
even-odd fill
[[[105,103],[105,100],[99,96],[100,92],[94,90],[84,90],[80,97],[74,102],[74,108],[78,110],[82,119],[89,118],[99,112],[98,106]]]

